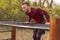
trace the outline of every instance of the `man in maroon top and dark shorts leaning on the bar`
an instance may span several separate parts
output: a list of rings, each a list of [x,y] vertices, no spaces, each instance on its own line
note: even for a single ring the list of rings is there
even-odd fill
[[[26,13],[26,15],[28,15],[29,18],[29,20],[26,23],[30,23],[31,19],[34,19],[35,24],[45,24],[46,21],[43,15],[45,15],[47,22],[49,22],[50,17],[48,12],[44,11],[41,8],[31,8],[28,2],[23,2],[22,9]],[[34,29],[33,39],[41,40],[41,35],[44,33],[45,31],[42,29]]]

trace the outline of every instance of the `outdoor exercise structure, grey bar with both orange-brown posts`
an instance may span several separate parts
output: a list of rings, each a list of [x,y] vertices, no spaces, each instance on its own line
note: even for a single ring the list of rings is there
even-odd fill
[[[58,22],[57,22],[58,21]],[[29,24],[24,22],[0,22],[1,26],[11,27],[11,40],[16,40],[16,28],[43,29],[50,31],[50,40],[60,40],[60,20],[50,21],[50,24]]]

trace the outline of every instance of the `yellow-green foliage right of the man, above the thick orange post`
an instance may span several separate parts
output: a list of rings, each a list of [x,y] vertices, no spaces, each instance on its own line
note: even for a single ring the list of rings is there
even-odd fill
[[[60,18],[60,7],[52,8],[44,8],[46,11],[50,13],[51,18]]]

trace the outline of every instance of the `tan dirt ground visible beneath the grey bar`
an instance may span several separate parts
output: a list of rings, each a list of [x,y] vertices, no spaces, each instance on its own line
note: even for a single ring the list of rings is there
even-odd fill
[[[0,30],[1,29],[8,30],[9,28],[1,27]],[[49,40],[49,31],[46,31],[45,34],[42,35],[41,39]],[[0,32],[0,40],[11,40],[11,32]],[[16,40],[33,40],[33,29],[17,28]]]

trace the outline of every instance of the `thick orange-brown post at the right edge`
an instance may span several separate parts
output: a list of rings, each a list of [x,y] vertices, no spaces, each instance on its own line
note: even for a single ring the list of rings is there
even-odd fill
[[[60,19],[50,19],[50,40],[60,40]]]

